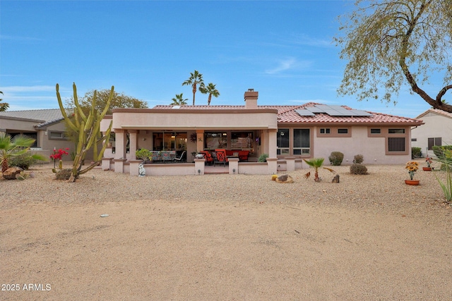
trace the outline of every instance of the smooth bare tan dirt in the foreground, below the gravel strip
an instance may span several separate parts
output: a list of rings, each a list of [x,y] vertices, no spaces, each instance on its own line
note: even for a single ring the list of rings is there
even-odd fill
[[[427,207],[17,204],[0,211],[0,300],[451,300],[452,209]]]

